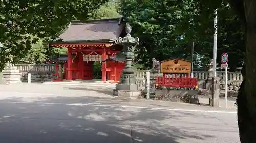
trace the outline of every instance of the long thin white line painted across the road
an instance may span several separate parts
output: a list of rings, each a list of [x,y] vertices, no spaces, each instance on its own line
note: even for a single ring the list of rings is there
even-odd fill
[[[19,104],[45,104],[45,105],[68,105],[68,106],[96,106],[96,107],[121,107],[121,108],[139,108],[152,110],[169,110],[169,111],[184,111],[184,112],[209,112],[209,113],[237,113],[236,111],[215,111],[215,110],[189,110],[189,109],[174,109],[174,108],[154,108],[141,106],[124,106],[124,105],[95,105],[95,104],[66,104],[66,103],[34,103],[34,102],[1,102],[1,103],[19,103]]]

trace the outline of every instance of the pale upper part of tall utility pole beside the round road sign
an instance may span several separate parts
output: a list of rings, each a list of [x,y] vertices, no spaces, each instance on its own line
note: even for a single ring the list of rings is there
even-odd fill
[[[213,67],[213,70],[214,70],[214,78],[216,79],[216,59],[217,59],[217,22],[218,22],[218,16],[217,16],[217,9],[214,11],[214,15],[215,15],[215,18],[214,18],[214,48],[213,48],[213,60],[214,60],[214,67]],[[215,83],[214,83],[215,84]]]

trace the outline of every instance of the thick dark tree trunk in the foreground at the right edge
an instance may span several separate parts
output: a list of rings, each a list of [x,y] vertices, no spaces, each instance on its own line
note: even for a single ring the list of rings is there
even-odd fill
[[[253,143],[256,133],[256,1],[244,0],[243,3],[246,18],[246,66],[245,80],[238,97],[238,123],[241,143]]]

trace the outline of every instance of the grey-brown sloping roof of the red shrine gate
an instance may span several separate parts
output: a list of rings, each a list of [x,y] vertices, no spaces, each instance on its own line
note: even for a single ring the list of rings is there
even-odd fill
[[[63,42],[111,41],[118,38],[123,30],[120,18],[72,21],[69,28],[60,35]]]

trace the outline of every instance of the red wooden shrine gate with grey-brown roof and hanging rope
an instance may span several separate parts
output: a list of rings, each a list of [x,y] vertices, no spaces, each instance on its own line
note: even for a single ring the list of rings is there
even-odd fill
[[[125,23],[120,18],[88,20],[86,22],[72,21],[70,26],[50,47],[67,48],[67,58],[53,60],[63,66],[65,80],[91,80],[95,61],[101,61],[102,81],[118,82],[125,66],[124,56],[119,53],[122,46],[116,45],[118,37],[125,36]],[[59,78],[59,76],[57,76]]]

